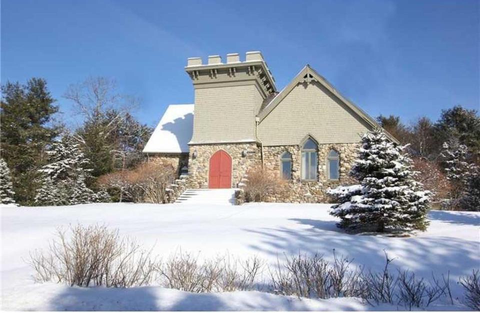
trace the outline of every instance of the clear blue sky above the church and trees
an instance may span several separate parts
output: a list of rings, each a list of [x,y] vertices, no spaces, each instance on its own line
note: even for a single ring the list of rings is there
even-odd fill
[[[278,89],[309,63],[372,116],[435,120],[479,109],[479,12],[477,0],[1,0],[1,82],[44,77],[71,123],[68,84],[115,78],[154,125],[193,101],[187,57],[261,50]]]

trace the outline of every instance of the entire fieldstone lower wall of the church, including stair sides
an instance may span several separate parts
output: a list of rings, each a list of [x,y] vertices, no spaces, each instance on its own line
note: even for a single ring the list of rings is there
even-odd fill
[[[348,185],[355,183],[355,180],[348,175],[351,165],[356,158],[359,143],[337,143],[318,145],[318,172],[317,180],[301,180],[301,146],[282,145],[264,146],[263,164],[265,168],[280,172],[280,155],[284,151],[291,153],[292,157],[292,178],[288,181],[288,187],[280,194],[268,197],[271,202],[328,202],[329,197],[325,193],[328,187],[340,184]],[[148,160],[152,162],[167,162],[176,169],[179,177],[180,168],[188,165],[188,175],[176,179],[168,187],[168,202],[175,199],[187,188],[208,188],[208,168],[210,157],[213,153],[223,149],[232,159],[231,187],[241,187],[242,178],[246,171],[261,163],[261,149],[256,143],[224,143],[224,144],[195,144],[190,145],[190,153],[181,154],[155,154],[149,155]],[[330,149],[339,153],[339,179],[328,180],[326,175],[326,160]],[[193,151],[196,157],[193,158]],[[243,156],[243,151],[246,154]],[[239,185],[240,183],[240,185]],[[242,193],[237,192],[237,204],[243,202]]]

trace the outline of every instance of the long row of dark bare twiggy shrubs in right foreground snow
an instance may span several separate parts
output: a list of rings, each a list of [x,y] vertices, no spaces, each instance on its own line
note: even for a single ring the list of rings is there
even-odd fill
[[[353,268],[352,260],[338,256],[333,250],[333,260],[323,256],[302,254],[288,256],[275,266],[269,267],[271,290],[284,295],[298,297],[360,297],[369,304],[390,303],[412,307],[426,307],[442,296],[449,296],[449,275],[443,280],[432,275],[431,281],[416,278],[414,273],[398,270],[391,274],[389,265],[393,261],[385,252],[385,266],[382,272],[364,267]],[[397,301],[395,301],[395,298]]]

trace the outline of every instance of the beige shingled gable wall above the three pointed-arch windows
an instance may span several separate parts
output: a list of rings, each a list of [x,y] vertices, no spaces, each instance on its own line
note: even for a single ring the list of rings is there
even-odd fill
[[[300,144],[311,134],[319,144],[353,143],[370,126],[318,82],[300,83],[258,125],[263,145]]]

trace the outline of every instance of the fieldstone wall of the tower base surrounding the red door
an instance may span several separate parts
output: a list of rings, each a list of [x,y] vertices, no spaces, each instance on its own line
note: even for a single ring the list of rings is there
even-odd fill
[[[218,144],[192,144],[188,159],[188,174],[190,188],[208,188],[208,167],[210,157],[216,151],[223,149],[231,156],[232,173],[231,187],[238,186],[241,178],[248,168],[260,164],[260,148],[253,143],[218,143]],[[193,152],[196,157],[193,158]],[[243,151],[246,155],[243,156]]]

